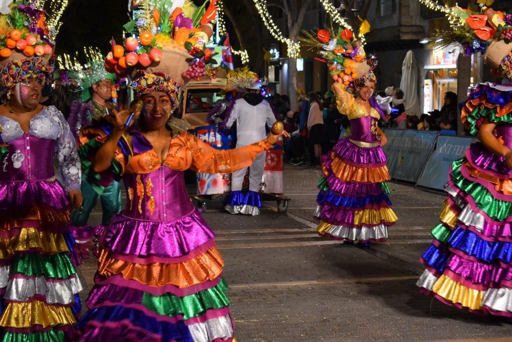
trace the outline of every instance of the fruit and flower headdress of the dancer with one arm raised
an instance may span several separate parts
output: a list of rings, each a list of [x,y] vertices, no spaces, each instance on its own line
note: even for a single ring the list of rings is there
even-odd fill
[[[367,57],[365,49],[354,38],[349,29],[321,29],[316,32],[304,32],[301,41],[319,56],[316,60],[329,67],[329,74],[335,82],[348,88],[359,87],[368,80],[375,81],[373,70],[377,65],[374,56]],[[357,81],[356,81],[357,80]]]

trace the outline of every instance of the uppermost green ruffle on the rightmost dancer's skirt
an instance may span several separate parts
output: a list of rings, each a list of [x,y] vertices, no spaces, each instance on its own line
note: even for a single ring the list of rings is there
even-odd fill
[[[512,202],[501,201],[493,197],[485,186],[479,183],[467,180],[460,173],[460,167],[465,162],[461,158],[452,163],[451,179],[459,189],[470,195],[475,201],[477,207],[484,211],[488,217],[503,221],[512,215]]]

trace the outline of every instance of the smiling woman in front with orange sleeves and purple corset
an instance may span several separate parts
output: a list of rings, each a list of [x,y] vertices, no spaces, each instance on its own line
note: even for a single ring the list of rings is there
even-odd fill
[[[168,15],[161,17],[169,20]],[[164,25],[175,32],[172,23]],[[109,136],[82,130],[81,153],[89,154],[101,177],[122,176],[127,203],[102,238],[89,311],[77,325],[81,341],[233,339],[224,263],[215,234],[190,201],[183,172],[246,167],[283,133],[243,148],[217,150],[195,136],[168,130],[166,122],[178,106],[186,76],[183,71],[189,68],[187,59],[195,53],[184,52],[174,37],[172,45],[163,46],[156,66],[130,71],[138,75],[131,86],[143,102],[136,124],[131,125],[138,111],[132,109],[114,111],[115,128]],[[204,46],[200,51],[202,56],[211,53]]]

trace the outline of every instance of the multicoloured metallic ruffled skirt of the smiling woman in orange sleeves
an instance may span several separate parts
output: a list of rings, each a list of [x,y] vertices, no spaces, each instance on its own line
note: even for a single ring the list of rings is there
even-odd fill
[[[197,209],[165,223],[114,217],[79,340],[232,340],[214,236]]]

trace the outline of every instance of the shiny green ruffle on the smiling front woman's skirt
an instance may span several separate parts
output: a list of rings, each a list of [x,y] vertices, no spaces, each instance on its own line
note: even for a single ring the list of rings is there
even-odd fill
[[[162,316],[183,315],[183,319],[189,319],[202,315],[208,309],[220,309],[229,306],[226,297],[227,284],[222,279],[216,286],[185,296],[178,297],[170,293],[155,296],[144,292],[142,305],[148,310]]]

